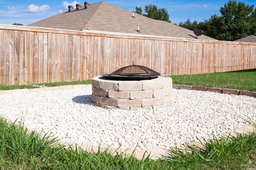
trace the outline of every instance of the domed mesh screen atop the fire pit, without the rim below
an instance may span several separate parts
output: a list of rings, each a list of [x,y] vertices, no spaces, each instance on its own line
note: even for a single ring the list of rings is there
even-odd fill
[[[140,76],[140,75],[146,75],[146,76],[150,76],[150,75],[159,75],[160,73],[142,66],[142,65],[129,65],[126,67],[122,67],[116,71],[114,71],[113,73],[110,73],[109,76],[111,75],[122,75],[122,76]]]

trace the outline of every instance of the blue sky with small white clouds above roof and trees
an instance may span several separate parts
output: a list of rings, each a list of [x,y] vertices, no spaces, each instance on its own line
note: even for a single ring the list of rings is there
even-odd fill
[[[26,26],[65,12],[68,10],[68,5],[83,6],[85,1],[90,4],[102,2],[102,0],[0,0],[0,24],[19,23]],[[134,11],[136,6],[144,9],[147,4],[156,5],[158,8],[166,8],[171,22],[179,24],[188,18],[192,22],[194,20],[200,22],[210,19],[214,14],[220,16],[220,7],[223,7],[228,0],[105,0],[105,2],[130,11]],[[237,0],[237,2],[256,4],[255,0]]]

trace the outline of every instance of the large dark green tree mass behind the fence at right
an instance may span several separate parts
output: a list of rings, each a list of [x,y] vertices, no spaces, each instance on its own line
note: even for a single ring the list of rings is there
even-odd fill
[[[254,5],[246,5],[244,2],[229,0],[220,8],[221,16],[212,15],[209,20],[197,23],[180,22],[179,26],[194,30],[198,28],[204,31],[204,35],[217,40],[234,41],[246,36],[256,36],[256,9]]]

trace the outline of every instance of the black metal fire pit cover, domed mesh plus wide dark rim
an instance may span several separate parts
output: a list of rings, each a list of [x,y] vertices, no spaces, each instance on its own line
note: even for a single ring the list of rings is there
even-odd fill
[[[112,80],[146,80],[157,78],[159,75],[160,73],[142,65],[128,65],[102,76]]]

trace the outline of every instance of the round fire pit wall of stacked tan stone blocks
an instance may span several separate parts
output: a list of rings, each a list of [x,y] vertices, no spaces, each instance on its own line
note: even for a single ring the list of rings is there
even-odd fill
[[[172,100],[172,78],[159,76],[140,81],[92,79],[92,101],[105,109],[157,109],[169,107]]]

